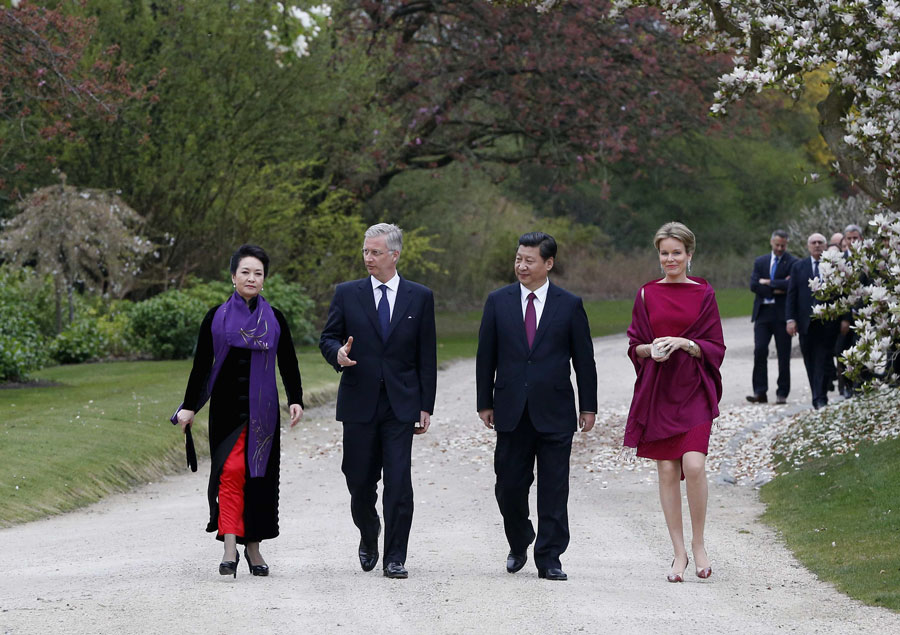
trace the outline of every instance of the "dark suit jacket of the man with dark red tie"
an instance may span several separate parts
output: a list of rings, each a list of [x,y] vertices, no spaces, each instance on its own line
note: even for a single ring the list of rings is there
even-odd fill
[[[478,332],[478,410],[493,408],[494,428],[502,432],[516,428],[526,404],[536,430],[575,430],[570,360],[581,411],[596,412],[594,344],[581,298],[551,283],[529,350],[519,283],[497,289],[484,305]]]

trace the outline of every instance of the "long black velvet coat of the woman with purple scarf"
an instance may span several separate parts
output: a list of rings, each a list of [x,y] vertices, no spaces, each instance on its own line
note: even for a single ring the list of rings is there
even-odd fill
[[[255,309],[256,300],[251,301],[251,311]],[[212,320],[216,313],[213,307],[203,318],[200,325],[200,336],[197,340],[197,351],[194,354],[194,366],[188,379],[184,393],[184,408],[197,410],[203,387],[206,384],[213,366]],[[278,339],[278,370],[287,392],[288,404],[303,405],[303,388],[300,381],[300,369],[297,366],[297,354],[291,338],[290,327],[284,315],[272,308],[281,334]],[[225,459],[231,453],[241,431],[250,420],[250,351],[244,348],[232,348],[222,364],[219,375],[213,386],[209,399],[209,453],[212,466],[209,475],[209,524],[206,531],[218,531],[219,527],[219,477]],[[260,478],[250,478],[247,468],[247,482],[244,486],[244,536],[238,536],[241,544],[258,542],[278,535],[278,474],[281,458],[281,426],[275,427],[272,440],[272,452],[266,474]],[[244,464],[247,465],[246,452]],[[216,538],[222,540],[221,535]]]

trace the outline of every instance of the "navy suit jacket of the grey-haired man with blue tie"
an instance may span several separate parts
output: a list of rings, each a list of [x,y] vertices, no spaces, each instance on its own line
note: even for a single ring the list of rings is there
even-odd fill
[[[350,359],[356,365],[341,367],[337,351],[351,335]],[[371,421],[382,381],[397,419],[418,421],[422,410],[434,411],[437,340],[431,289],[400,278],[388,338],[382,342],[371,279],[339,284],[319,338],[319,349],[342,373],[338,421]]]

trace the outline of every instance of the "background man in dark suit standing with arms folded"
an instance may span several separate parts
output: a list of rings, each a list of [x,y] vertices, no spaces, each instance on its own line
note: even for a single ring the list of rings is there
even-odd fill
[[[791,336],[785,330],[784,302],[787,297],[791,265],[796,258],[787,252],[788,234],[783,229],[772,232],[772,252],[753,263],[750,290],[753,299],[753,394],[751,403],[766,403],[769,390],[769,341],[775,338],[778,352],[778,383],[775,403],[787,403],[791,391]]]

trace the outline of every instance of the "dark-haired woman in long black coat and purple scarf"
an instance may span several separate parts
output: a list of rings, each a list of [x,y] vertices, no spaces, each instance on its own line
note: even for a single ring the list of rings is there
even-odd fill
[[[231,257],[234,293],[200,325],[184,402],[172,417],[182,430],[209,400],[209,524],[225,543],[222,575],[237,576],[243,544],[253,575],[269,575],[261,540],[278,535],[280,426],[275,362],[290,404],[291,426],[303,415],[300,369],[287,321],[259,295],[269,257],[242,245]]]

